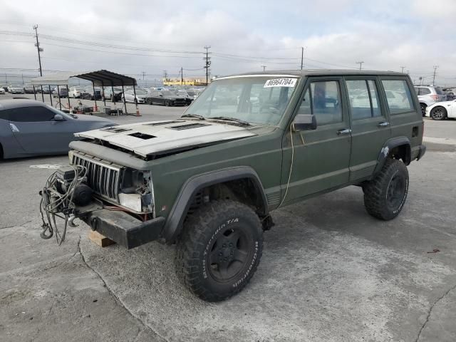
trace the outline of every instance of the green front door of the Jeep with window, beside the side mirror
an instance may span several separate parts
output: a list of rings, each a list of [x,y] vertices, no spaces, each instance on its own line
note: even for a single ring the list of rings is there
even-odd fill
[[[293,132],[293,146],[290,131],[284,135],[282,194],[292,170],[286,202],[348,183],[351,128],[341,82],[341,78],[309,78],[307,82],[297,114],[314,115],[317,128]]]

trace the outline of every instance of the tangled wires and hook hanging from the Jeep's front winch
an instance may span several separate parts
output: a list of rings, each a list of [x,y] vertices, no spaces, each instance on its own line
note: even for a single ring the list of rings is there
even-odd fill
[[[75,177],[73,178],[73,180],[71,180],[68,187],[66,187],[63,194],[57,190],[58,171],[53,172],[53,174],[48,177],[48,180],[46,180],[46,184],[44,185],[43,190],[40,192],[40,214],[41,220],[43,221],[43,225],[41,226],[43,228],[43,231],[41,232],[40,237],[43,239],[51,239],[55,232],[57,244],[59,246],[65,240],[68,221],[70,220],[71,214],[73,214],[74,190],[78,185],[80,185],[84,180],[86,180],[87,175],[86,167],[82,165],[70,166],[73,167]],[[62,216],[60,213],[62,213],[64,216]],[[44,218],[44,214],[46,214],[46,219]],[[58,226],[56,224],[56,217],[63,219],[65,222],[63,224],[63,230],[61,232],[58,230]]]

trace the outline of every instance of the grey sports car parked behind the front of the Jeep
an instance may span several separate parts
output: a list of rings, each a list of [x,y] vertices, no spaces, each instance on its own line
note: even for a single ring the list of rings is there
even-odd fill
[[[91,115],[68,115],[34,100],[0,100],[0,159],[68,152],[74,133],[115,126]]]

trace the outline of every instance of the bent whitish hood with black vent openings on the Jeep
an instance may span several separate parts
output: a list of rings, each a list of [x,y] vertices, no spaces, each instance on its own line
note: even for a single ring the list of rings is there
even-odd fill
[[[203,120],[152,121],[75,133],[76,137],[109,142],[142,157],[254,135],[243,127]]]

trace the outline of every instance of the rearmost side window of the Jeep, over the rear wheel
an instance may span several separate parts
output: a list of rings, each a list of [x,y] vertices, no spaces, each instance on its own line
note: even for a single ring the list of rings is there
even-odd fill
[[[382,80],[391,114],[415,110],[412,95],[405,80]]]

